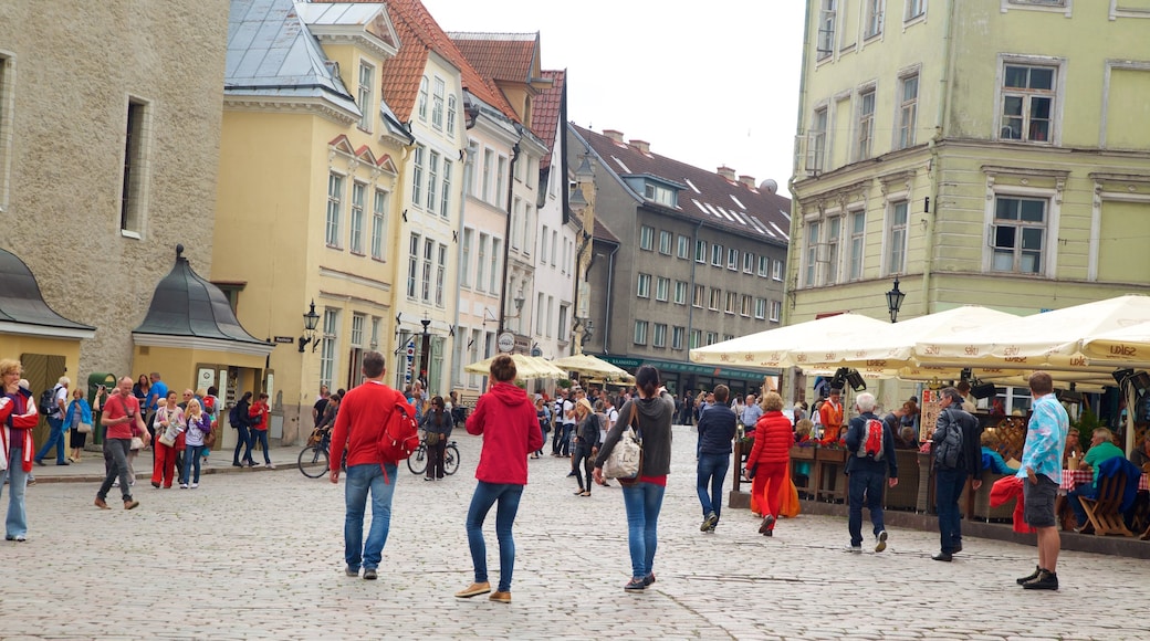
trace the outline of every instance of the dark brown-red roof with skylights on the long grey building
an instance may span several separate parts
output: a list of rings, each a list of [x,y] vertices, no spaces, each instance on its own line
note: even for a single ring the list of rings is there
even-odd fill
[[[591,147],[597,164],[616,176],[650,175],[682,185],[684,188],[678,191],[678,207],[669,208],[677,214],[757,240],[789,244],[790,199],[758,186],[728,180],[714,171],[643,152],[627,142],[615,142],[578,125],[572,124],[570,130]],[[642,193],[637,196],[644,200]],[[643,207],[668,208],[650,200]]]

